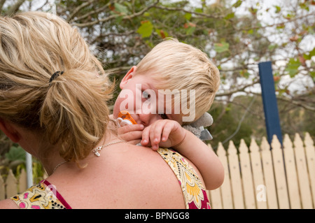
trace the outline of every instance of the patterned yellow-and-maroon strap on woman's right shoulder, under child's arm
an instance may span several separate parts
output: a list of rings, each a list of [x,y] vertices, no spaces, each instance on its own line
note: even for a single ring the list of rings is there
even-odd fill
[[[174,171],[186,203],[187,209],[211,209],[207,192],[194,169],[181,154],[170,149],[158,150],[158,153]]]

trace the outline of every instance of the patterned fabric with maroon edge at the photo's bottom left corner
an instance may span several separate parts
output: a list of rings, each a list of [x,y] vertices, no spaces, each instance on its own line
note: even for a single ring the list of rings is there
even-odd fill
[[[22,194],[11,197],[21,209],[71,209],[47,180],[41,181]]]

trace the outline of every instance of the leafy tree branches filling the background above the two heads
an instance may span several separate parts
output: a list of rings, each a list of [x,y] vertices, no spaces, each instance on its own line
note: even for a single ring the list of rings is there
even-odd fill
[[[258,63],[270,60],[277,99],[288,105],[281,118],[297,107],[302,114],[315,110],[314,5],[313,0],[276,0],[270,6],[258,0],[0,1],[5,15],[19,9],[63,17],[117,81],[163,38],[194,45],[221,71],[216,101],[225,109],[239,94],[260,96]],[[248,101],[238,104],[247,108]],[[223,124],[220,120],[214,126]]]

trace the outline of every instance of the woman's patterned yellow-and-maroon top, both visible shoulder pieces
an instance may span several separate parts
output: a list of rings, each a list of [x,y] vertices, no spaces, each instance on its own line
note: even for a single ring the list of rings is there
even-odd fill
[[[210,209],[207,192],[200,178],[188,162],[174,150],[162,149],[158,153],[174,171],[188,209]],[[55,187],[47,180],[30,187],[22,194],[11,197],[22,209],[71,209]]]

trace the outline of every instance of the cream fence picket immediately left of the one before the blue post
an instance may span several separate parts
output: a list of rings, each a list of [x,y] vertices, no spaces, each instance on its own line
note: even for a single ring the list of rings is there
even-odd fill
[[[269,209],[277,209],[278,200],[276,197],[276,182],[274,180],[274,166],[272,163],[272,153],[270,151],[270,145],[265,137],[262,137],[261,148],[261,159],[262,159],[262,170],[265,178],[267,206]]]

